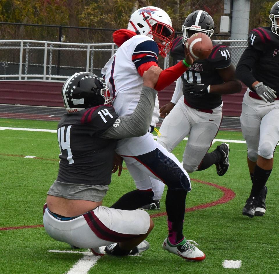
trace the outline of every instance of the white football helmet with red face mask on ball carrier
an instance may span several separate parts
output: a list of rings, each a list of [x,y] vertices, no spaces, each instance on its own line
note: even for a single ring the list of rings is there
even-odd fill
[[[159,54],[163,57],[172,47],[174,38],[174,29],[171,24],[171,19],[164,10],[156,7],[144,7],[136,10],[129,20],[128,30],[135,31],[137,34],[147,35],[150,38],[154,37],[163,40],[158,43]]]

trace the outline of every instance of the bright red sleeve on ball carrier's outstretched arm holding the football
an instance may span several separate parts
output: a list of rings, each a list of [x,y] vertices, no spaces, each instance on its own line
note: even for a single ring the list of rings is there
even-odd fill
[[[137,71],[140,76],[143,76],[144,71],[148,70],[151,66],[158,67],[158,64],[156,62],[147,62],[140,65]],[[160,91],[169,86],[171,83],[177,80],[177,78],[179,78],[187,69],[188,67],[183,64],[183,61],[180,61],[176,65],[163,70],[154,89]]]

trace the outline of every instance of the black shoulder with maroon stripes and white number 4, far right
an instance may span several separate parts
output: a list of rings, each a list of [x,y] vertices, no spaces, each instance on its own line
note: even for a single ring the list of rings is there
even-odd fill
[[[259,28],[252,29],[252,31],[249,33],[247,42],[254,49],[257,49],[259,51],[264,51],[267,44],[269,44],[272,40],[275,40],[275,38],[273,33],[271,32],[271,28],[259,27]]]

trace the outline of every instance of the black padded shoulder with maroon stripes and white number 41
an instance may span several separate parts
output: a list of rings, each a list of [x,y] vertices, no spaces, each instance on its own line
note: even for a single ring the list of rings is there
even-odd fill
[[[213,49],[208,57],[208,61],[212,63],[214,68],[226,68],[232,62],[232,51],[230,47],[212,41]]]

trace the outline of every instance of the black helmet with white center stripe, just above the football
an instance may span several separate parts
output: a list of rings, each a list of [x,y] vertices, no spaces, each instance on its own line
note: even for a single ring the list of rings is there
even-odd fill
[[[186,17],[182,25],[183,44],[195,32],[203,32],[209,37],[214,33],[214,21],[208,12],[195,10]]]

